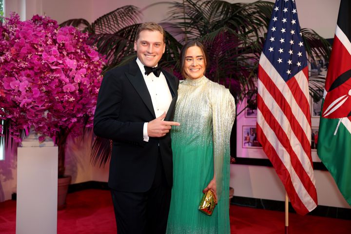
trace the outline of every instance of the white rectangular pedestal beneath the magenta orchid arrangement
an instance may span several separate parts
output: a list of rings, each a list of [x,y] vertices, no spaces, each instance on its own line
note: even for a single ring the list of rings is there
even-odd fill
[[[19,147],[16,234],[56,234],[57,202],[58,147]]]

